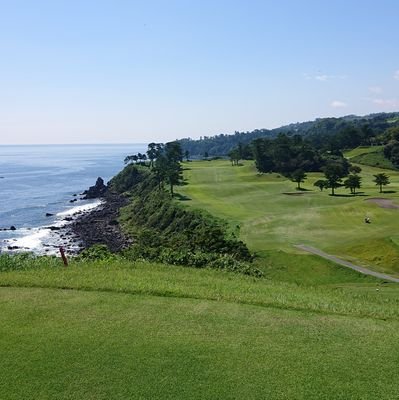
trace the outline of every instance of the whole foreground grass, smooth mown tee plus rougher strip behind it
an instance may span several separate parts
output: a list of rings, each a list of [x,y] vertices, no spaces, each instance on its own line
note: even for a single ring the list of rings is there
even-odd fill
[[[125,261],[4,271],[1,398],[394,399],[395,285],[341,272],[316,287]]]

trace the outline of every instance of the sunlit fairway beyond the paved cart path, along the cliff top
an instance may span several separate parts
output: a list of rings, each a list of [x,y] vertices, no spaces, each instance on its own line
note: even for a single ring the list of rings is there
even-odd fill
[[[308,191],[287,195],[295,193],[293,182],[276,174],[256,174],[252,162],[241,167],[225,161],[193,162],[185,172],[190,184],[179,191],[191,199],[186,204],[221,215],[232,227],[240,225],[241,238],[271,262],[279,262],[277,250],[296,253],[293,245],[304,243],[399,276],[399,211],[365,201],[384,197],[399,204],[399,173],[389,172],[391,184],[380,194],[372,180],[381,170],[362,169],[362,193],[350,196],[342,188],[332,197],[313,187],[321,174],[309,174],[303,184]],[[370,225],[363,222],[366,215]],[[297,260],[299,266],[304,264]]]

